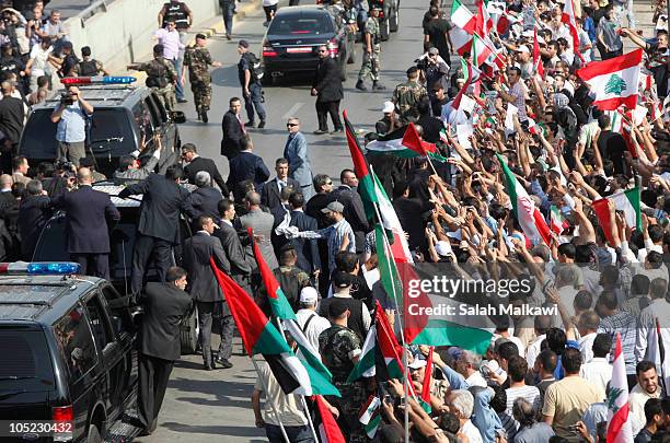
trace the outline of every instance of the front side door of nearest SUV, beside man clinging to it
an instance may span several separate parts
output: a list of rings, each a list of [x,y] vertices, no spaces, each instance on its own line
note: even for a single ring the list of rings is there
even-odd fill
[[[100,291],[94,291],[84,300],[90,318],[91,331],[102,359],[105,372],[105,390],[103,401],[109,422],[123,413],[124,376],[126,360],[124,347],[119,343],[107,315],[106,303]]]

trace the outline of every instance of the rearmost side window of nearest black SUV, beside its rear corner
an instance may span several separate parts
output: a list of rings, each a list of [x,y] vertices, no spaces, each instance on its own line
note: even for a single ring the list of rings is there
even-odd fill
[[[93,335],[83,306],[77,305],[54,326],[56,343],[73,384],[97,362]]]

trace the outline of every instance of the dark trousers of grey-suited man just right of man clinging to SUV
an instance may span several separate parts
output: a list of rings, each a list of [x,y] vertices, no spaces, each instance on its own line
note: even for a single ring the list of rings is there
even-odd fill
[[[196,302],[203,360],[209,366],[211,366],[213,360],[211,354],[211,329],[215,322],[219,324],[221,330],[221,345],[219,345],[218,357],[228,360],[232,355],[233,318],[230,314],[224,315],[221,306],[217,307],[218,303],[221,302]]]

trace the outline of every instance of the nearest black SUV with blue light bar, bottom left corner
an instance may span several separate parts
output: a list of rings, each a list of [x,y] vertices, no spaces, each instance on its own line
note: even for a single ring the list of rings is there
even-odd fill
[[[71,434],[39,441],[101,442],[136,398],[132,317],[107,281],[73,275],[77,264],[49,266],[59,275],[0,264],[0,417],[71,423]]]

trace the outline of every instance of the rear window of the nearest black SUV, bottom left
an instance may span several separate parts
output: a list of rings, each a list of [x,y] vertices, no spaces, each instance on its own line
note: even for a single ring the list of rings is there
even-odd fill
[[[15,389],[36,393],[54,386],[54,366],[42,330],[0,328],[0,397]]]

